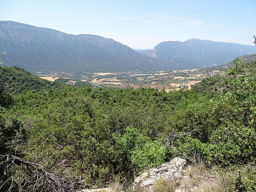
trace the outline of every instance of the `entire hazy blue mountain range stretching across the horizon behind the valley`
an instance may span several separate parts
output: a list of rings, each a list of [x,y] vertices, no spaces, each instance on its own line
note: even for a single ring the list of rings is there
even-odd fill
[[[14,21],[0,21],[4,64],[34,74],[57,71],[148,72],[212,66],[256,53],[255,46],[191,39],[162,42],[154,50],[136,52],[113,39],[72,35]],[[144,53],[143,53],[144,52]]]

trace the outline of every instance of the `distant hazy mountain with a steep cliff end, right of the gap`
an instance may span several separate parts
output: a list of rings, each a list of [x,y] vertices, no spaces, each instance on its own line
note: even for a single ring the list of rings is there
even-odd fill
[[[223,65],[235,57],[256,53],[256,47],[235,43],[189,39],[167,41],[155,46],[152,57],[172,62],[189,63],[191,67]]]

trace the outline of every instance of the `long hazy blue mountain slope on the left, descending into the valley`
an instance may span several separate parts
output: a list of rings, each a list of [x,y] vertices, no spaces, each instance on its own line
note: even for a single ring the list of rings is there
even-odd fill
[[[33,74],[54,72],[122,72],[182,68],[178,63],[150,58],[101,36],[72,35],[13,21],[0,21],[4,64]]]

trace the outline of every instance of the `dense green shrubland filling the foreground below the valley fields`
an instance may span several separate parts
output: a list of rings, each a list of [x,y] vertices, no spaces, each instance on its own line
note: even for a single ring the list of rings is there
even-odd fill
[[[229,69],[230,91],[222,95],[53,84],[14,96],[1,84],[0,189],[129,183],[176,156],[199,156],[208,167],[255,164],[256,76],[241,64]],[[255,189],[253,175],[239,174],[234,186]]]

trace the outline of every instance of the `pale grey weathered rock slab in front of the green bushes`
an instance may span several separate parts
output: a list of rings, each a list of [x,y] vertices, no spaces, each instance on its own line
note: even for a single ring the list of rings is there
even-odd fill
[[[160,179],[160,177],[164,177],[168,180],[182,179],[184,177],[184,169],[187,165],[188,164],[185,159],[176,157],[168,163],[151,168],[134,180],[133,189],[138,186],[140,188],[151,188],[155,184],[155,181]]]

